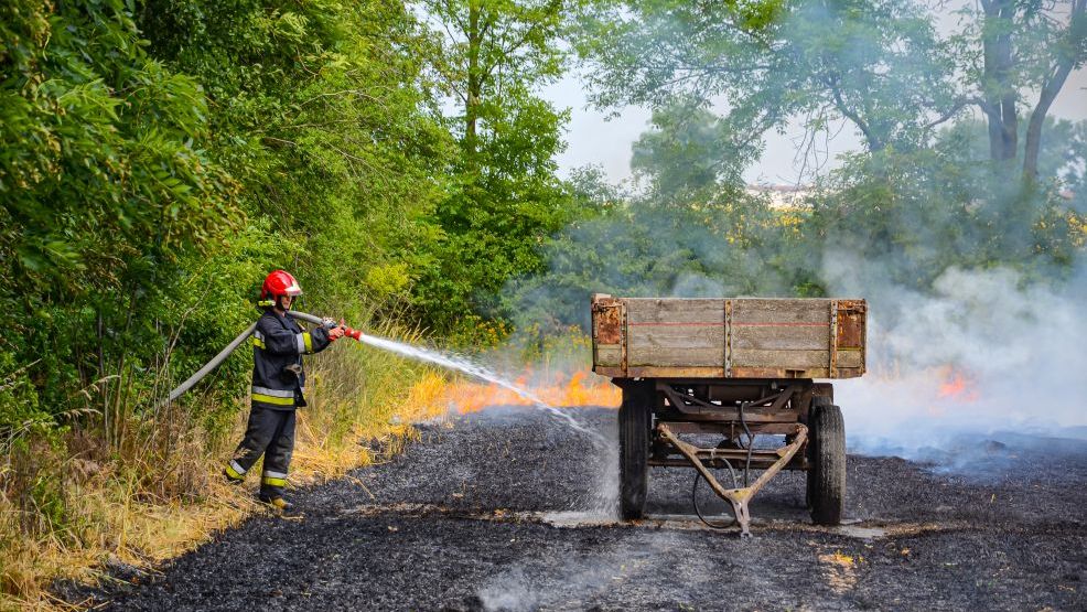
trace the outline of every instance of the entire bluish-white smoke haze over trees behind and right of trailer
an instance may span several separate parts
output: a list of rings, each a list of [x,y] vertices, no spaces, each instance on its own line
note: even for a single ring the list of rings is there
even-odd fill
[[[1008,167],[989,162],[983,122],[964,115],[930,129],[956,93],[969,90],[933,25],[946,10],[929,14],[915,2],[862,11],[819,2],[794,8],[776,29],[788,50],[779,58],[796,62],[776,75],[785,80],[734,83],[730,71],[692,79],[627,74],[628,64],[591,58],[604,77],[629,84],[598,92],[596,103],[655,110],[636,151],[645,189],[625,192],[593,181],[592,172],[572,176],[574,197],[591,214],[546,246],[547,273],[503,292],[513,297],[517,328],[589,330],[592,292],[864,298],[869,373],[835,382],[851,452],[950,465],[971,441],[993,452],[1000,444],[987,440],[1022,441],[1009,432],[1083,436],[1087,266],[1068,266],[1072,254],[1083,253],[1083,222],[1069,212],[1087,190],[1068,180],[1069,169],[1080,176],[1081,147],[1048,128],[1042,144],[1038,184],[1068,186],[1077,191],[1074,200],[1053,190],[1024,193]],[[644,21],[618,51],[641,44],[646,56],[664,54],[655,65],[702,65],[706,57],[686,53],[713,51],[691,43],[702,40],[691,28],[710,32],[713,13],[684,10],[604,17]],[[735,54],[721,60],[757,63]],[[824,78],[826,69],[832,79]],[[825,85],[882,133],[867,140],[868,152],[842,157],[840,169],[820,179],[806,197],[810,207],[775,210],[744,193],[734,173],[698,171],[749,161],[745,148],[732,144],[747,128],[765,129],[756,119],[777,98],[760,93],[807,96],[818,108],[797,103],[777,111],[812,132],[833,125],[840,117],[827,115]],[[722,101],[725,94],[731,98]],[[723,126],[709,108],[734,125]]]

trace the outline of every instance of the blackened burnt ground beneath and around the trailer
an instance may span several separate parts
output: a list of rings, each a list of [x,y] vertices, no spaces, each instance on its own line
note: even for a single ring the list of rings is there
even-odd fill
[[[614,411],[573,414],[614,438]],[[850,457],[838,528],[810,524],[803,475],[785,473],[753,502],[746,540],[690,519],[689,470],[652,472],[655,518],[585,514],[614,497],[613,452],[528,408],[426,426],[388,463],[297,491],[303,517],[254,517],[95,597],[109,610],[1087,609],[1087,442],[968,440],[950,473]]]

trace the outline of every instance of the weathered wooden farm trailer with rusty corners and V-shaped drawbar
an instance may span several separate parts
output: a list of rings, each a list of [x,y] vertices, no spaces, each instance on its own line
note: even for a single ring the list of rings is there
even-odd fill
[[[865,313],[855,299],[594,294],[593,372],[623,389],[623,516],[642,517],[649,465],[692,466],[749,535],[747,501],[784,469],[807,472],[816,523],[840,523],[844,423],[833,387],[815,380],[864,374]],[[695,433],[721,442],[702,448],[681,438]],[[756,445],[760,434],[784,436],[784,444]],[[731,487],[711,472],[722,469]],[[749,483],[752,471],[762,473]]]

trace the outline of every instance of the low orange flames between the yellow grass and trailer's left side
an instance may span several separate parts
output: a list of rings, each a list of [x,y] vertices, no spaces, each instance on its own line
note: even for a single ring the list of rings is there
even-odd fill
[[[530,374],[519,376],[514,383],[551,406],[605,406],[617,407],[622,391],[607,378],[581,371],[567,376],[559,374],[542,385],[529,384]],[[476,412],[488,406],[531,406],[532,401],[499,387],[463,380],[449,385],[440,398],[444,405],[461,414]]]

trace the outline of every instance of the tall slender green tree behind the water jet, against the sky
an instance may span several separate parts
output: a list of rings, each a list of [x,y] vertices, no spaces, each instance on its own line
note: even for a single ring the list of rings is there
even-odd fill
[[[503,316],[499,292],[539,271],[539,247],[559,229],[566,194],[555,176],[566,112],[536,90],[560,75],[557,0],[429,0],[439,36],[433,74],[456,108],[454,185],[439,205],[435,265],[416,287],[431,325],[450,331],[470,313]]]

